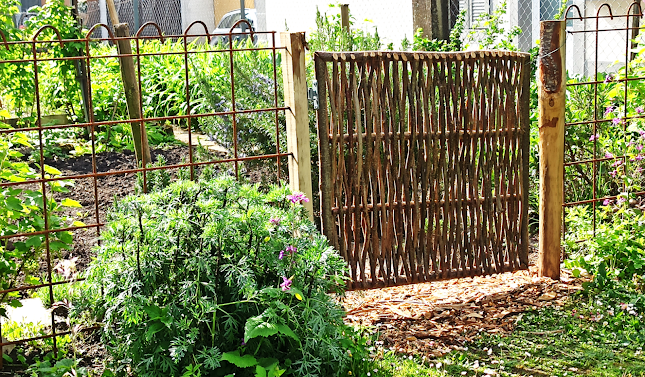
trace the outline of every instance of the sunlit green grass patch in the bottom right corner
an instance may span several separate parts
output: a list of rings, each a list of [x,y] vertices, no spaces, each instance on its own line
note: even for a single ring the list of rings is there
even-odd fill
[[[625,284],[590,289],[565,307],[525,313],[508,337],[484,335],[440,359],[381,351],[370,375],[645,376],[644,301]]]

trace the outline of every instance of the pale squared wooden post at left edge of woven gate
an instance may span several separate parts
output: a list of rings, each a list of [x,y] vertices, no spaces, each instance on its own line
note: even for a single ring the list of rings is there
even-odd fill
[[[287,151],[292,154],[292,157],[289,157],[289,186],[293,191],[300,191],[310,199],[303,205],[309,213],[309,219],[313,220],[305,34],[282,32],[280,40],[282,46],[287,49],[282,57],[282,79],[284,104],[289,108],[285,112]]]

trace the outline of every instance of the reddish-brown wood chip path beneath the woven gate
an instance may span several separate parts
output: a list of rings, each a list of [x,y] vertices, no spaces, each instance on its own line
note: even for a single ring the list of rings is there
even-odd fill
[[[560,281],[537,267],[494,276],[347,292],[346,322],[374,326],[379,345],[399,353],[442,356],[482,332],[506,335],[522,313],[562,306],[584,279],[563,270]]]

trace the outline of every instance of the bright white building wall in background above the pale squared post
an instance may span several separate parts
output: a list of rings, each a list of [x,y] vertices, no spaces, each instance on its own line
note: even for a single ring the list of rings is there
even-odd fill
[[[329,8],[330,0],[265,0],[266,30],[304,31],[311,33],[316,29],[316,7],[321,13],[338,14],[340,8]],[[373,32],[378,26],[378,34],[383,44],[394,43],[398,47],[401,40],[413,35],[412,1],[388,0],[344,0],[354,18],[355,28]],[[368,21],[365,21],[368,20]],[[258,20],[259,21],[259,20]]]

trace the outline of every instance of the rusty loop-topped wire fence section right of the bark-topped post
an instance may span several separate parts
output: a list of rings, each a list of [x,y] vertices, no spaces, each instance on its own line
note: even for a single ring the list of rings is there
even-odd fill
[[[630,200],[637,204],[645,194],[638,89],[645,73],[634,52],[643,43],[638,37],[642,17],[639,1],[574,4],[566,13],[567,67],[573,69],[567,84],[563,223],[571,227],[569,214],[587,213],[590,237],[599,216],[607,219],[603,208]]]

